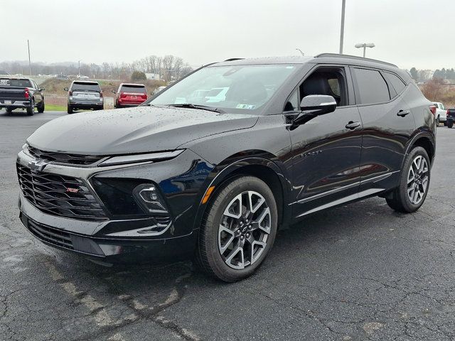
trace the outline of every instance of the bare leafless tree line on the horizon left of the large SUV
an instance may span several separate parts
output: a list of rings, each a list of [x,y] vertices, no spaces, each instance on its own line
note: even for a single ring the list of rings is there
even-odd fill
[[[174,55],[149,55],[132,63],[31,63],[32,75],[86,75],[91,78],[127,80],[134,71],[153,73],[166,82],[187,75],[193,68]],[[1,62],[0,72],[27,75],[27,61]]]

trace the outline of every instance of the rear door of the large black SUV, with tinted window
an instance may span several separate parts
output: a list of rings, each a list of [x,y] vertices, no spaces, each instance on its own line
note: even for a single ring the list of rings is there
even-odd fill
[[[414,117],[406,84],[393,72],[351,67],[351,73],[363,123],[359,191],[373,194],[397,185]]]

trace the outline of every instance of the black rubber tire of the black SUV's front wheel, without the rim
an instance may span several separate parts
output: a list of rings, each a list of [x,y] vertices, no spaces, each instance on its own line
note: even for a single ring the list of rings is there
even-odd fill
[[[242,254],[247,255],[244,259],[242,259],[242,264],[245,265],[245,263],[247,263],[245,259],[250,257],[250,264],[245,265],[243,269],[233,269],[227,264],[227,260],[223,259],[222,252],[218,246],[218,236],[221,235],[221,232],[219,232],[220,224],[222,222],[222,219],[225,219],[226,217],[224,215],[224,212],[228,209],[228,205],[232,205],[233,200],[235,200],[237,196],[242,195],[243,198],[243,195],[249,195],[249,193],[258,193],[264,198],[265,202],[260,207],[256,208],[257,212],[254,213],[254,215],[252,214],[250,216],[250,227],[248,228],[251,228],[253,217],[255,217],[256,214],[259,214],[259,210],[263,213],[267,210],[268,206],[269,215],[267,215],[266,223],[269,225],[267,227],[269,232],[268,234],[264,233],[261,228],[255,229],[255,231],[251,232],[250,238],[252,239],[250,240],[253,241],[255,241],[255,238],[257,238],[253,237],[253,234],[256,234],[256,236],[259,236],[259,238],[264,238],[264,236],[267,236],[267,239],[265,240],[265,247],[255,248],[254,243],[251,244],[251,242],[248,241],[248,239],[245,237],[249,235],[248,231],[245,229],[245,225],[243,225],[243,227],[240,227],[240,224],[232,223],[231,227],[237,226],[237,232],[239,234],[236,239],[234,237],[235,234],[232,233],[232,250],[226,249],[224,254],[226,254],[226,251],[228,251],[229,256],[230,252],[233,251],[235,247],[238,247],[240,245],[236,245],[236,243],[240,243],[240,238],[242,238],[242,241],[245,244],[245,247],[242,248]],[[245,205],[249,205],[247,204],[246,200]],[[253,206],[255,206],[255,204],[253,204]],[[242,212],[249,212],[243,205],[243,199]],[[272,249],[274,239],[277,234],[277,218],[277,203],[275,201],[274,195],[269,186],[267,186],[262,180],[259,180],[258,178],[252,176],[240,176],[239,178],[229,180],[228,183],[213,193],[213,197],[211,197],[210,202],[208,203],[208,207],[203,218],[203,223],[200,227],[198,249],[196,250],[196,263],[210,276],[213,276],[225,282],[240,281],[243,278],[251,276],[259,268],[259,266],[261,266],[270,249]],[[244,217],[240,218],[240,220],[243,219]],[[255,220],[257,220],[257,217]],[[248,222],[248,220],[246,220],[246,222]],[[260,224],[262,224],[262,222]],[[242,229],[242,232],[240,232],[240,229]],[[262,242],[264,242],[263,239]],[[231,244],[231,242],[226,243],[226,245],[228,244]],[[260,251],[257,259],[254,261],[252,261],[252,254],[257,253],[257,251],[251,252],[252,249]],[[246,250],[246,252],[243,252],[243,250]],[[232,264],[232,260],[230,263]]]

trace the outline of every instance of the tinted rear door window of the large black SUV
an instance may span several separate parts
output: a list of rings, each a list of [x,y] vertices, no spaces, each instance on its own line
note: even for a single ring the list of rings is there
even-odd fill
[[[377,70],[354,68],[358,104],[375,104],[390,100],[387,82]]]

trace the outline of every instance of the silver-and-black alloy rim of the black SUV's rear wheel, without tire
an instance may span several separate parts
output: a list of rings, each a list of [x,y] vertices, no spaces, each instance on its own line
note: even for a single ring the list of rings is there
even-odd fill
[[[414,205],[419,204],[427,192],[428,172],[427,160],[421,155],[416,156],[407,174],[407,196]]]

